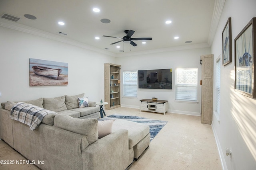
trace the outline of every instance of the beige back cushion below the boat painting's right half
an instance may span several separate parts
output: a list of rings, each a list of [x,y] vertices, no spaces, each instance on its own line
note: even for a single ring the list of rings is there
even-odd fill
[[[44,109],[52,110],[55,112],[66,110],[65,96],[56,98],[43,98]]]

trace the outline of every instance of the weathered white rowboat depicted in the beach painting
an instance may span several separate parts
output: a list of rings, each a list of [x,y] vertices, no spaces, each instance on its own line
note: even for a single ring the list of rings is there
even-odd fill
[[[55,80],[58,80],[62,71],[60,68],[48,68],[43,66],[32,66],[34,73],[39,76],[46,76]]]

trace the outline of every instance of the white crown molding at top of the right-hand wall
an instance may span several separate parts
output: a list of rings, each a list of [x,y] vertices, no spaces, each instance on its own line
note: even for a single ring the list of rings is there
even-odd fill
[[[212,42],[214,40],[214,36],[220,21],[220,16],[222,14],[222,10],[224,8],[226,0],[215,0],[214,2],[214,9],[213,9],[213,14],[212,14],[212,22],[211,22],[211,27],[210,27],[210,32],[208,35],[208,44],[212,46]]]

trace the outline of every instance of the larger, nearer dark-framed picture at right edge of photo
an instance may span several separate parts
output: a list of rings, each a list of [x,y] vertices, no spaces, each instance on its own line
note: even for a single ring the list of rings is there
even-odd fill
[[[235,38],[235,91],[256,98],[256,18]]]

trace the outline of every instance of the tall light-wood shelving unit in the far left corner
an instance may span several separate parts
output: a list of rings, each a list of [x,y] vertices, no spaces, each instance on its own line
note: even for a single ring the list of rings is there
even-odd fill
[[[120,67],[118,64],[104,64],[104,82],[105,82],[105,109],[114,109],[120,107]]]

